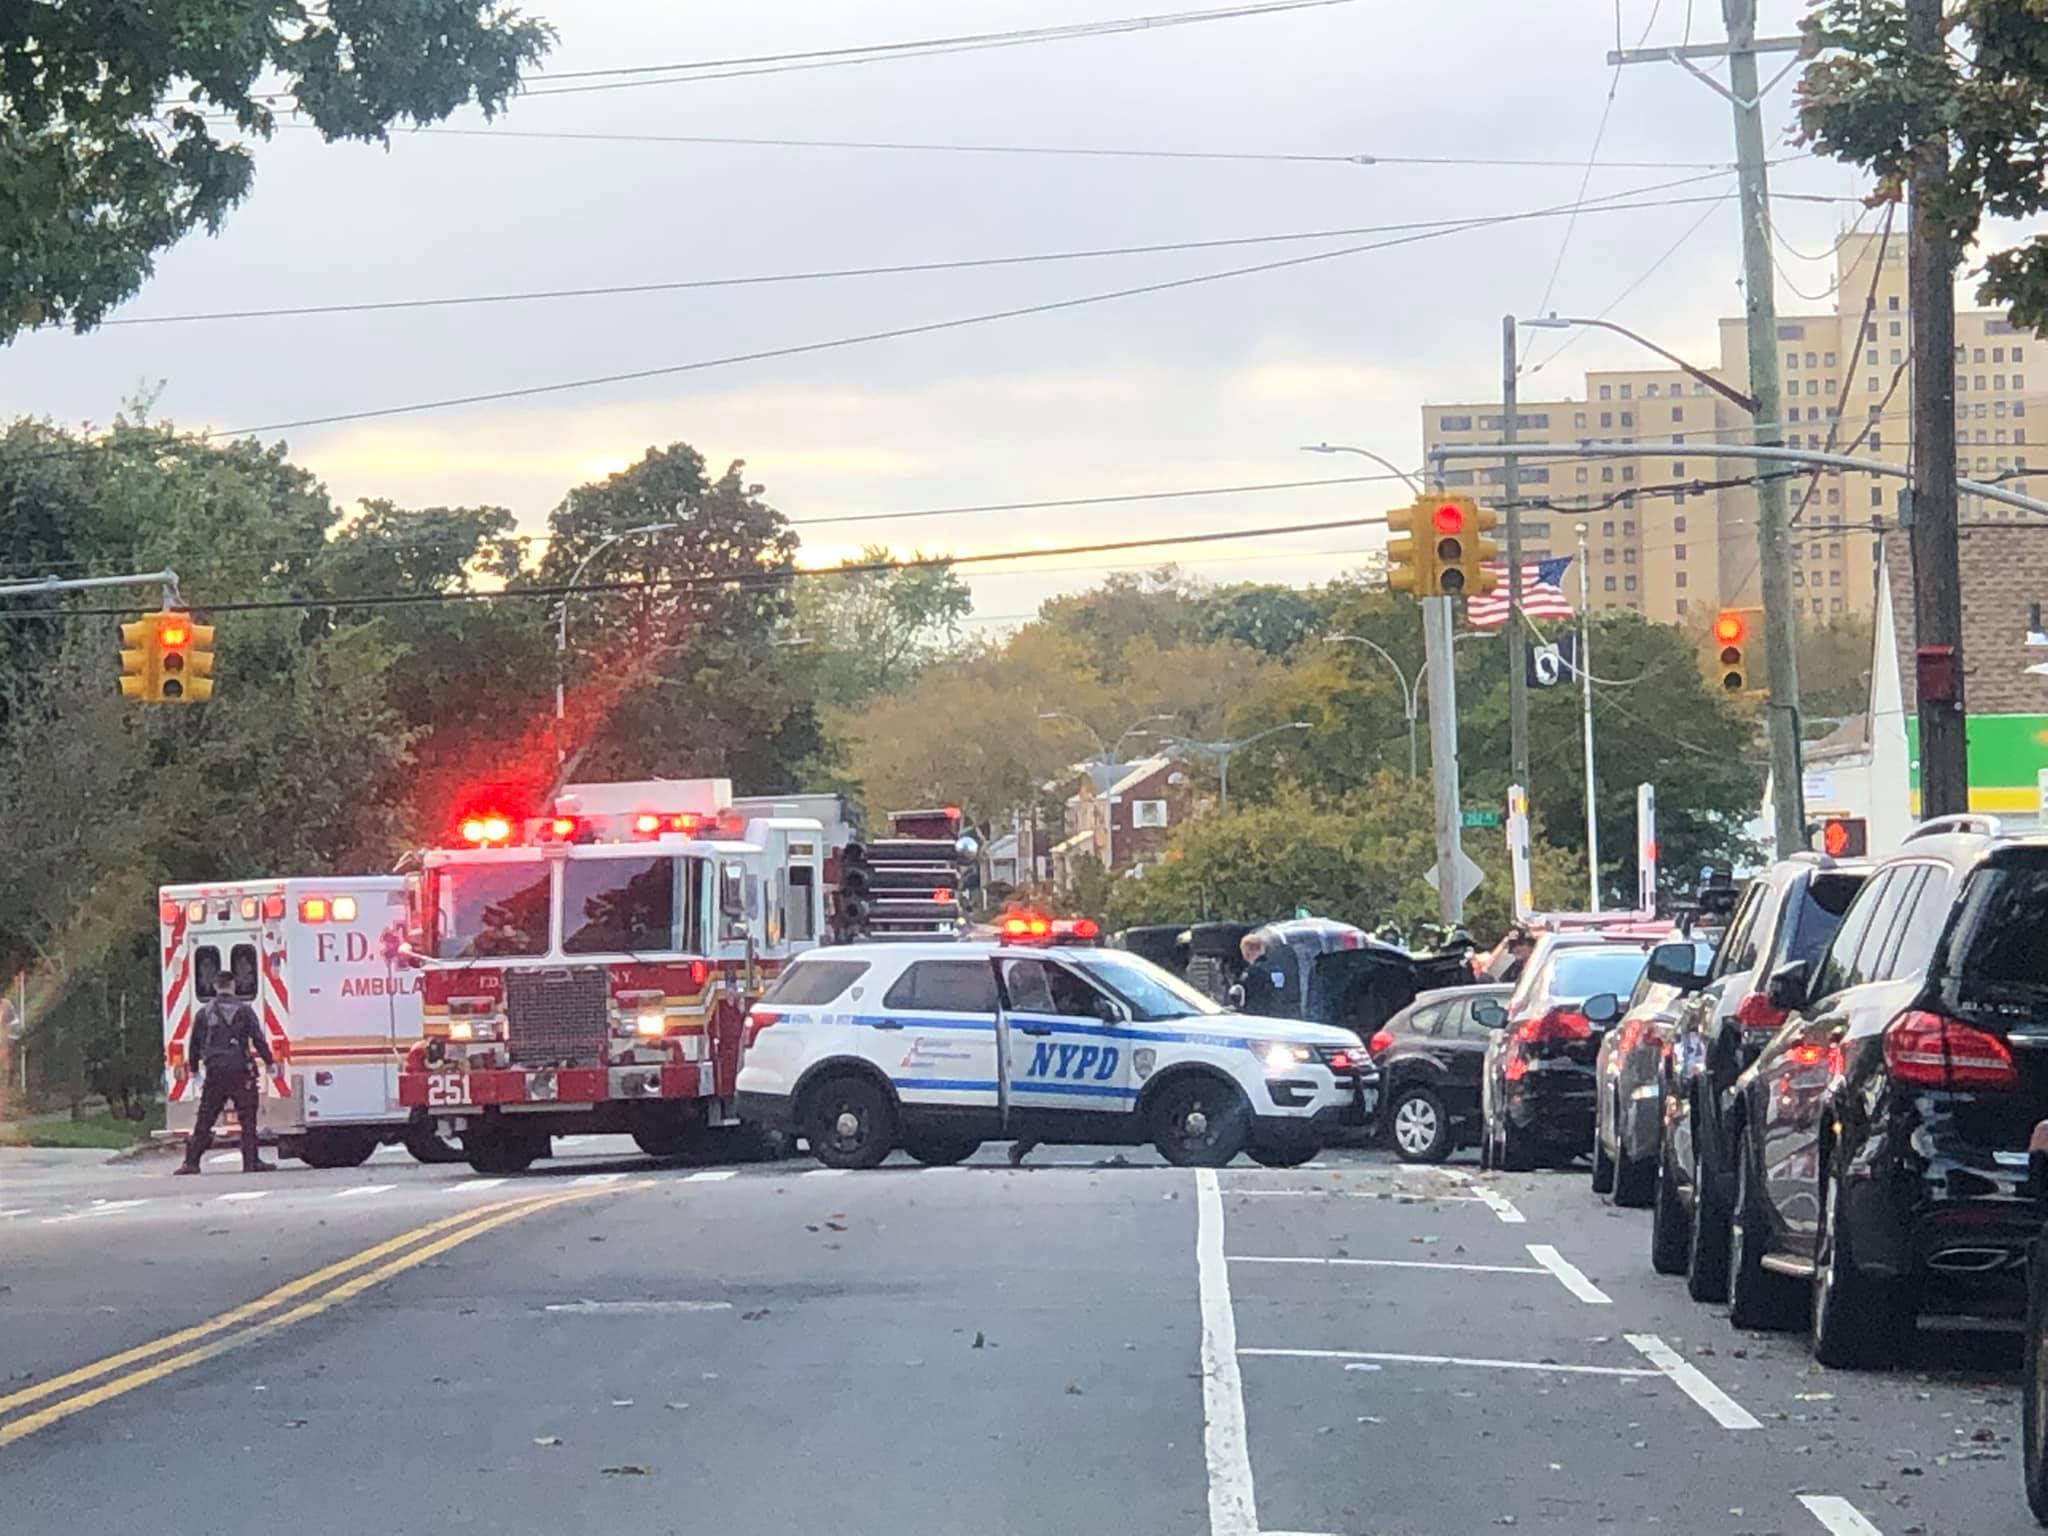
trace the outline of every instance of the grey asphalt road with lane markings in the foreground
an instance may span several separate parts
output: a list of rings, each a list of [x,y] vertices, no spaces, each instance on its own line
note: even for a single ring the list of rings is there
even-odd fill
[[[231,1536],[2030,1528],[2015,1335],[1821,1370],[1651,1274],[1647,1214],[1583,1174],[565,1151],[502,1182],[0,1163],[0,1507]]]

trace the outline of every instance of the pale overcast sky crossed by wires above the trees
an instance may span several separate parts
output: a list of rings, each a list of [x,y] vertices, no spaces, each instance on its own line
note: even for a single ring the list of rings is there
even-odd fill
[[[1196,4],[1223,0],[1186,0]],[[784,53],[1159,12],[1163,0],[535,0],[561,33],[547,74]],[[1622,0],[1634,43],[1716,37],[1720,8]],[[1794,0],[1765,0],[1790,31]],[[1608,0],[1354,0],[1327,8],[858,68],[530,96],[504,133],[322,145],[285,127],[219,238],[170,252],[121,313],[418,299],[1016,256],[1499,215],[1569,203],[1616,74]],[[545,76],[535,88],[545,88]],[[1790,82],[1769,102],[1774,152]],[[465,119],[467,127],[475,123]],[[1526,158],[1556,168],[909,154],[563,141],[651,133],[1202,152]],[[1602,162],[1716,164],[1729,109],[1669,66],[1620,72]],[[1595,166],[1589,193],[1700,174]],[[1845,195],[1821,160],[1774,193]],[[1647,197],[1700,197],[1733,176]],[[1704,223],[1700,221],[1704,215]],[[1780,203],[1786,274],[1821,293],[1849,205]],[[1688,229],[1692,229],[1688,238]],[[1284,272],[831,352],[741,362],[524,401],[285,432],[336,498],[496,502],[539,526],[561,494],[686,440],[745,459],[793,520],[1040,498],[1374,473],[1298,444],[1419,461],[1425,399],[1499,389],[1499,317],[1602,313],[1710,362],[1739,309],[1733,201],[1585,215],[1550,283],[1563,219],[1475,229]],[[1012,309],[1243,266],[1352,240],[1116,256],[973,272],[694,293],[37,334],[0,352],[0,410],[104,424],[145,387],[180,426],[246,428],[475,391],[659,369],[733,352]],[[1677,246],[1675,250],[1671,250]],[[1671,252],[1667,258],[1665,254]],[[1659,258],[1665,258],[1659,262]],[[1653,270],[1655,268],[1655,270]],[[1647,276],[1645,276],[1647,274]],[[1780,291],[1780,305],[1821,307]],[[1556,338],[1538,334],[1534,356]],[[1585,367],[1638,367],[1577,340],[1528,393],[1577,393]],[[866,541],[975,553],[1270,526],[1384,510],[1343,485],[1065,512],[805,530],[809,559]],[[1208,580],[1317,582],[1372,530],[1206,545]],[[987,623],[1110,565],[979,571]]]

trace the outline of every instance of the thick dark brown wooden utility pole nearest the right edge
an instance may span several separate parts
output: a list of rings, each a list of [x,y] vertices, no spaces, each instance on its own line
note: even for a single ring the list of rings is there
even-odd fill
[[[1907,45],[1942,53],[1942,0],[1907,0]],[[1921,815],[1970,809],[1962,696],[1962,569],[1956,549],[1956,254],[1933,213],[1948,180],[1948,137],[1913,147],[1907,305],[1913,309],[1913,641],[1921,668]],[[1946,651],[1946,657],[1942,655]],[[1946,662],[1946,664],[1944,664]],[[1944,686],[1946,684],[1946,686]]]

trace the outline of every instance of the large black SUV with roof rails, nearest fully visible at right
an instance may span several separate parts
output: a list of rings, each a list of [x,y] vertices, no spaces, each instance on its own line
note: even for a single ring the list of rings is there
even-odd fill
[[[2017,1311],[2042,1231],[2048,836],[1937,817],[1858,893],[1735,1083],[1729,1317],[1796,1327],[1825,1366],[1882,1366],[1923,1311]]]

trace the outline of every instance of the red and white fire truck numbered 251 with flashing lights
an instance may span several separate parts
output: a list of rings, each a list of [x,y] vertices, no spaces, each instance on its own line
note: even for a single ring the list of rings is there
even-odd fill
[[[674,1157],[737,1126],[748,1006],[803,950],[958,936],[958,811],[854,836],[836,795],[725,778],[571,784],[539,817],[471,815],[408,874],[424,1038],[399,1102],[481,1174],[559,1135]],[[936,836],[928,836],[936,834]]]

